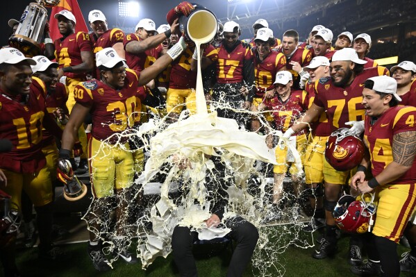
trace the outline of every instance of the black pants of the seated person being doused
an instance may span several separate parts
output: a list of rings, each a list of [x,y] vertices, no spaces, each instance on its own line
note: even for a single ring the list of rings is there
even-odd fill
[[[237,245],[228,266],[227,276],[242,276],[242,272],[249,263],[258,240],[258,230],[242,217],[233,217],[224,222],[231,229],[226,237],[234,240]],[[195,233],[195,232],[194,232]],[[179,273],[183,277],[198,276],[192,244],[197,236],[192,234],[189,227],[176,226],[172,235],[172,249],[174,260]]]

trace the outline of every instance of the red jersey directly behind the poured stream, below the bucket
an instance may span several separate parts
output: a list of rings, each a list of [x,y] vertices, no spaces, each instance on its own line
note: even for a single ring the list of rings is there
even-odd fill
[[[191,71],[193,54],[194,50],[187,48],[182,52],[181,56],[171,63],[170,88],[185,90],[197,86],[197,72]],[[215,62],[218,58],[218,52],[211,44],[209,44],[208,48],[203,51],[203,56],[206,56]]]

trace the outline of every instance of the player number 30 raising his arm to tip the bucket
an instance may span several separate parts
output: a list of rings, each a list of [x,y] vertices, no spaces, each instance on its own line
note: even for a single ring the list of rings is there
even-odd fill
[[[92,80],[76,86],[74,113],[69,117],[65,127],[59,156],[64,161],[68,160],[76,131],[83,124],[85,116],[91,113],[92,138],[88,155],[94,199],[88,215],[88,253],[94,267],[99,271],[110,269],[102,252],[101,235],[106,231],[113,196],[117,201],[115,236],[111,237],[115,244],[113,255],[129,263],[138,261],[128,253],[127,246],[131,240],[128,239],[126,230],[126,189],[133,183],[133,156],[128,151],[128,137],[121,137],[120,140],[118,138],[122,131],[134,125],[138,87],[155,78],[184,48],[185,42],[183,39],[179,40],[166,55],[158,58],[153,65],[140,73],[126,69],[126,60],[120,58],[115,49],[103,49],[97,53],[96,58],[101,80]],[[68,162],[65,163],[68,165]]]

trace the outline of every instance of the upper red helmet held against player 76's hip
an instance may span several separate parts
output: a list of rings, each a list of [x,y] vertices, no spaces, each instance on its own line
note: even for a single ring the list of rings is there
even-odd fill
[[[348,128],[339,128],[328,137],[326,161],[338,171],[349,171],[360,165],[364,157],[364,144]]]

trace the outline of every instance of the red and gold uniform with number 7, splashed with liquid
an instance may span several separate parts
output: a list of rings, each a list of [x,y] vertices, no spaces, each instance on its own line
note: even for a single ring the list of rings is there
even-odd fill
[[[284,103],[279,99],[278,96],[272,99],[266,99],[265,105],[271,110],[274,118],[275,128],[282,133],[285,133],[290,128],[294,121],[301,117],[301,114],[306,111],[306,92],[301,90],[292,91],[289,99]],[[292,140],[296,140],[296,148],[301,156],[301,162],[303,164],[303,158],[305,157],[306,147],[306,133],[301,131],[292,135]],[[276,174],[285,174],[288,170],[286,165],[286,156],[288,155],[288,147],[281,149],[279,146],[276,147],[276,161],[278,165],[274,165],[273,172]],[[297,168],[294,163],[290,165],[290,174],[297,174]]]

